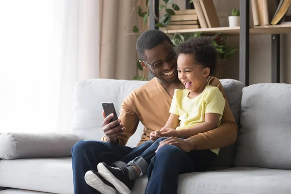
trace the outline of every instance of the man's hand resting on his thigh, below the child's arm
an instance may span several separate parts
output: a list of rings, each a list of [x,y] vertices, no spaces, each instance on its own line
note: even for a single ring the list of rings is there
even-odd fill
[[[196,149],[196,143],[192,138],[181,140],[178,137],[169,137],[160,142],[160,146],[156,150],[156,153],[158,152],[159,148],[164,145],[177,146],[178,148],[180,148],[181,150],[185,152],[190,152]]]

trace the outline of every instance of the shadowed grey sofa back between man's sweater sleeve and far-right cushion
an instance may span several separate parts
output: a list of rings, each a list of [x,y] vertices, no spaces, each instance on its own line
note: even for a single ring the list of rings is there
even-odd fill
[[[244,84],[240,81],[232,79],[220,80],[225,92],[228,104],[235,118],[238,129],[240,129],[240,114],[241,114],[241,100],[242,88]],[[235,144],[226,146],[220,149],[219,154],[213,163],[214,167],[232,167],[234,166]]]

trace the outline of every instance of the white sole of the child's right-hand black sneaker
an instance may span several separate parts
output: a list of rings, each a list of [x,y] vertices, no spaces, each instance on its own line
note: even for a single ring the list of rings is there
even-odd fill
[[[120,180],[115,178],[113,174],[100,162],[97,165],[97,169],[100,175],[105,178],[108,182],[113,184],[115,189],[121,194],[130,194],[129,188]]]

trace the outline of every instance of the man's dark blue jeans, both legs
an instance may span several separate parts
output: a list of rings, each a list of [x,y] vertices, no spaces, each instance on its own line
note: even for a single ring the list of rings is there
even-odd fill
[[[165,138],[162,138],[165,139]],[[178,174],[204,171],[216,158],[210,150],[184,152],[176,146],[162,146],[155,153],[160,138],[155,143],[150,141],[141,146],[131,148],[99,141],[80,141],[72,148],[72,166],[74,194],[98,194],[97,190],[88,186],[84,175],[88,170],[97,171],[97,164],[105,162],[130,162],[138,156],[149,163],[147,169],[148,183],[146,194],[176,194]]]

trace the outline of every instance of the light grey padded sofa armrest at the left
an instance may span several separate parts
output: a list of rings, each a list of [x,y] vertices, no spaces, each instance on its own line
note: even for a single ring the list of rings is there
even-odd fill
[[[72,147],[81,140],[71,132],[8,132],[0,134],[0,158],[70,157]]]

